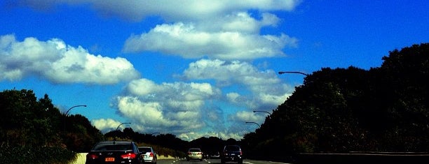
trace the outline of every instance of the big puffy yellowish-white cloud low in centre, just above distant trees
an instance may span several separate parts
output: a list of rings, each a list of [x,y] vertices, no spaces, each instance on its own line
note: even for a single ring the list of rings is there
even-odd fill
[[[125,94],[116,98],[116,104],[118,112],[139,124],[141,131],[189,133],[205,126],[205,100],[220,94],[208,83],[156,84],[139,79],[128,84]]]

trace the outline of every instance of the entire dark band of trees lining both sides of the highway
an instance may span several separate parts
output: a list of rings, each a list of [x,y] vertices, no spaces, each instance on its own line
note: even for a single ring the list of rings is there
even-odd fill
[[[175,157],[184,157],[189,147],[212,154],[224,144],[240,144],[246,158],[283,162],[313,152],[428,152],[429,44],[393,50],[382,60],[369,70],[321,68],[306,75],[292,96],[240,141],[187,142],[131,128],[102,134],[86,117],[62,114],[47,94],[37,99],[32,90],[1,91],[0,161],[69,163],[101,140],[134,140],[154,147],[158,156]]]

